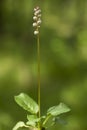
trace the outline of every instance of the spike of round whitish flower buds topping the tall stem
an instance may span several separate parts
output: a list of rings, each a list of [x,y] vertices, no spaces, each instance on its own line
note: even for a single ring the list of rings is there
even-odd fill
[[[33,27],[35,27],[34,34],[38,35],[41,24],[41,9],[39,8],[39,6],[34,8],[33,20],[34,20]]]

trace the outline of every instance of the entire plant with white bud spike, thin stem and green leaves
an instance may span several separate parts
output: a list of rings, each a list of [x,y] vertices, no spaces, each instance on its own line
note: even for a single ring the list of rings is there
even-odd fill
[[[34,8],[34,34],[37,36],[37,53],[38,53],[38,103],[35,102],[29,95],[21,93],[15,96],[16,103],[27,111],[27,121],[19,121],[13,128],[28,128],[30,130],[45,130],[53,126],[63,113],[69,112],[70,108],[64,103],[48,108],[46,114],[40,114],[40,42],[39,42],[39,28],[41,24],[41,9],[37,6]],[[51,122],[50,124],[48,122]]]

